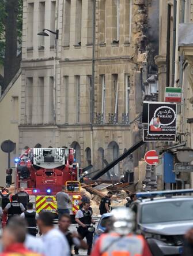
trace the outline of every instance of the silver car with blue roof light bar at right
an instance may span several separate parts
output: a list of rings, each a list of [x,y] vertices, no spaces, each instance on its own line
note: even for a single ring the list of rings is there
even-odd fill
[[[181,255],[184,234],[193,227],[193,190],[137,193],[131,204],[137,214],[136,232],[142,233],[154,256]],[[161,197],[156,197],[160,195]]]

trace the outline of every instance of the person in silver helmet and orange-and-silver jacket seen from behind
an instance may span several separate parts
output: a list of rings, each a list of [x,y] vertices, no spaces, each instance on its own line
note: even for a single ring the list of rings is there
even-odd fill
[[[112,210],[109,233],[96,241],[91,256],[152,256],[143,236],[134,235],[135,214],[127,207]]]

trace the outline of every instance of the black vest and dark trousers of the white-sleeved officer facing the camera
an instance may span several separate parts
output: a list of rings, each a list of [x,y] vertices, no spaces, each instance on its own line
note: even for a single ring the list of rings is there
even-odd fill
[[[92,244],[93,244],[93,232],[89,232],[88,227],[91,224],[92,216],[90,214],[90,211],[88,211],[86,213],[84,210],[82,210],[82,213],[83,213],[84,217],[80,218],[79,220],[82,223],[84,223],[85,225],[87,225],[87,227],[83,228],[83,227],[79,226],[77,231],[78,231],[78,234],[81,236],[82,239],[86,238],[86,242],[88,244],[87,254],[90,255],[90,252],[91,252],[91,249],[92,249]],[[77,247],[74,247],[74,251],[75,251],[75,254],[78,254],[78,248]]]

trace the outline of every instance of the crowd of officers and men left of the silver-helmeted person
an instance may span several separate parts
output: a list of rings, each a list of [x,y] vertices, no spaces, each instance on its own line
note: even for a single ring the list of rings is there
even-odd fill
[[[0,195],[2,198],[2,211],[0,208],[2,221],[3,218],[5,221],[5,216],[7,216],[6,227],[2,233],[3,254],[9,255],[13,251],[14,253],[22,251],[22,254],[27,252],[29,254],[31,251],[32,255],[37,253],[46,256],[67,256],[71,254],[73,248],[75,254],[79,254],[79,248],[87,249],[88,255],[92,253],[93,229],[90,228],[95,222],[92,218],[93,212],[90,207],[89,196],[84,191],[81,191],[80,209],[75,214],[75,222],[78,224],[77,232],[73,233],[69,231],[71,225],[69,203],[71,203],[71,199],[66,193],[65,186],[62,187],[62,191],[56,194],[58,228],[54,227],[52,213],[42,212],[38,214],[33,210],[33,203],[29,202],[29,195],[24,188],[20,188],[18,193],[12,196],[12,202],[9,201],[9,191],[6,188],[2,190]],[[111,212],[112,195],[113,193],[109,191],[107,196],[101,199],[99,206],[101,215]],[[36,237],[38,231],[42,238]],[[84,238],[86,242],[84,242]],[[7,242],[7,239],[10,243]],[[95,253],[97,247],[99,247],[98,243],[94,249]]]

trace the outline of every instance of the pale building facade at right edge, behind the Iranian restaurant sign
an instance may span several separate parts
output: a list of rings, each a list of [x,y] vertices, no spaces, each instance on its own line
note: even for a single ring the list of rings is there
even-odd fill
[[[159,54],[156,56],[160,101],[164,101],[166,86],[181,87],[183,91],[181,103],[177,106],[177,141],[165,144],[165,148],[175,145],[177,148],[178,144],[182,144],[193,149],[192,10],[192,0],[160,1]],[[181,187],[193,187],[192,173],[180,173],[176,177],[183,181],[178,184]]]

